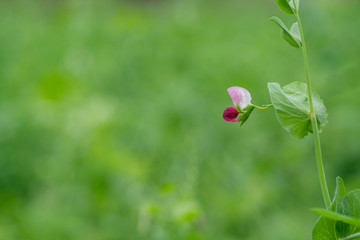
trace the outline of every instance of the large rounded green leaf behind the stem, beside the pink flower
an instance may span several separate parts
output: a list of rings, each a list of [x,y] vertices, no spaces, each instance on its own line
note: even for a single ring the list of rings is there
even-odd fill
[[[303,82],[293,82],[281,88],[279,83],[268,83],[268,88],[281,126],[298,138],[303,138],[308,132],[312,132],[307,85]],[[321,132],[322,127],[327,123],[326,108],[314,90],[312,96]]]

